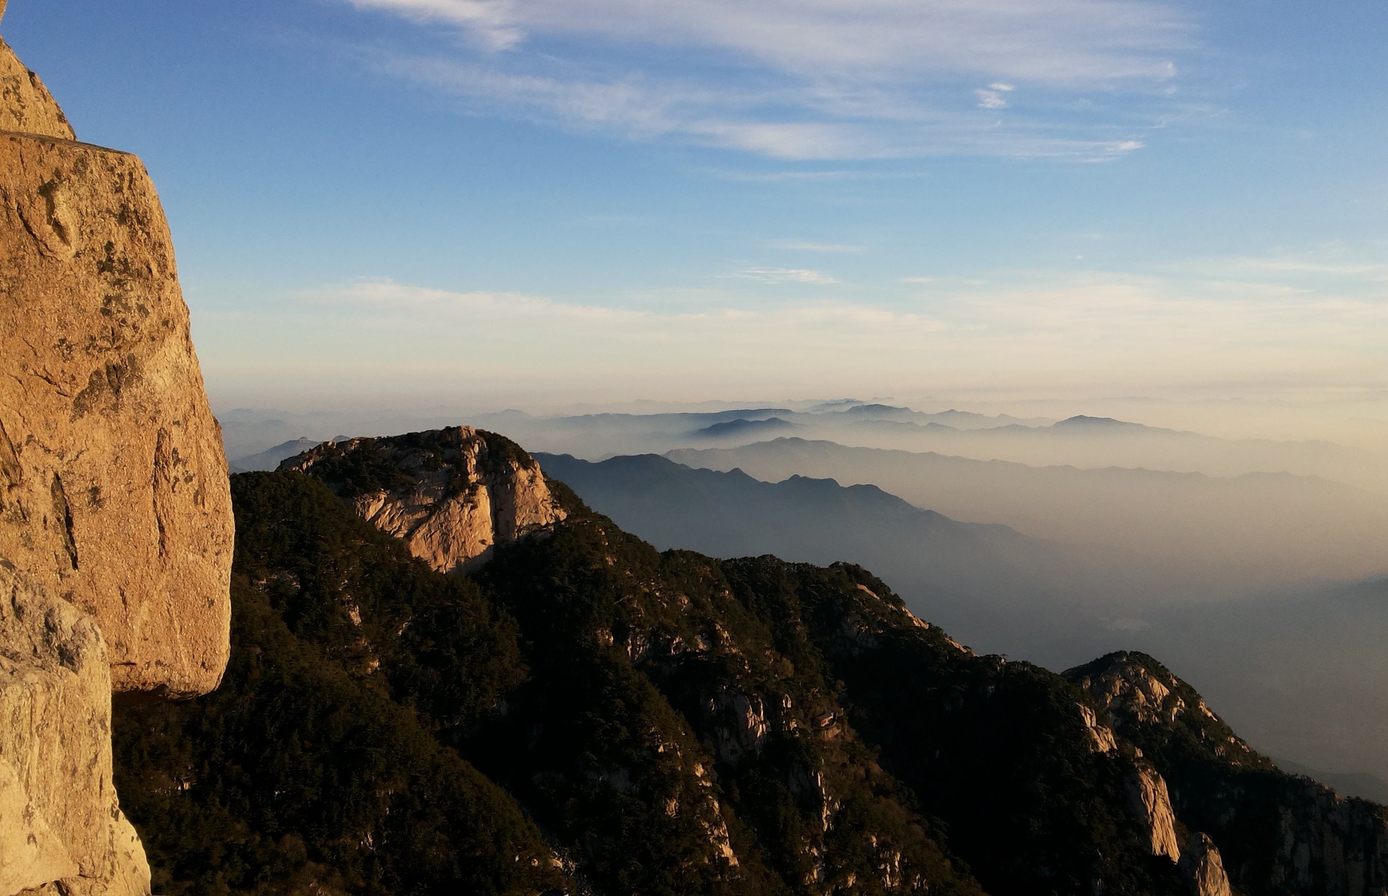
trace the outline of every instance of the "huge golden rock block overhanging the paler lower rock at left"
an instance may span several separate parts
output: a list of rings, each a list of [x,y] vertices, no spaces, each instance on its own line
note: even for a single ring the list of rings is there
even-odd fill
[[[217,687],[232,508],[133,155],[0,136],[0,556],[94,614],[118,691]]]

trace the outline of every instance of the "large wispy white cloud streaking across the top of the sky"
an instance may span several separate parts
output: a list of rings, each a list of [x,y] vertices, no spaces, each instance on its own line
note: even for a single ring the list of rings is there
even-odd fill
[[[1194,19],[1165,0],[344,1],[465,35],[446,51],[364,57],[469,111],[776,160],[1106,157],[1140,146],[1113,129],[1158,114],[1171,57],[1196,42]],[[980,75],[988,86],[959,103]],[[974,108],[1008,107],[1023,83],[1052,111],[1094,90],[1137,110],[999,126]]]

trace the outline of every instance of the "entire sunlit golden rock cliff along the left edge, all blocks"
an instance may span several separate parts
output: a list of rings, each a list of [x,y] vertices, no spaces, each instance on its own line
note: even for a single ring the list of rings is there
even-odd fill
[[[217,687],[230,551],[149,175],[74,141],[0,43],[0,893],[149,892],[111,782],[111,692]]]

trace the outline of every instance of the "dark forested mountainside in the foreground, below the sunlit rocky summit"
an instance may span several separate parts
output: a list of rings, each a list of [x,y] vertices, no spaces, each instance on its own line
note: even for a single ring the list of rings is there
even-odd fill
[[[661,553],[551,481],[562,519],[446,574],[328,469],[233,479],[222,691],[118,707],[161,892],[1213,896],[1269,807],[1224,756],[1167,799],[1155,728],[858,566]],[[1378,892],[1312,874],[1249,893]]]

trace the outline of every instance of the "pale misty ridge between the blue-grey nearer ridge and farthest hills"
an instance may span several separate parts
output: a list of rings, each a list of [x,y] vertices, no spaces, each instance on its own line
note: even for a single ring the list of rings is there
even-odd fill
[[[1088,545],[1128,588],[1163,591],[1166,601],[1388,571],[1388,502],[1317,477],[1033,467],[798,437],[666,456],[765,481],[873,484],[956,520]]]

